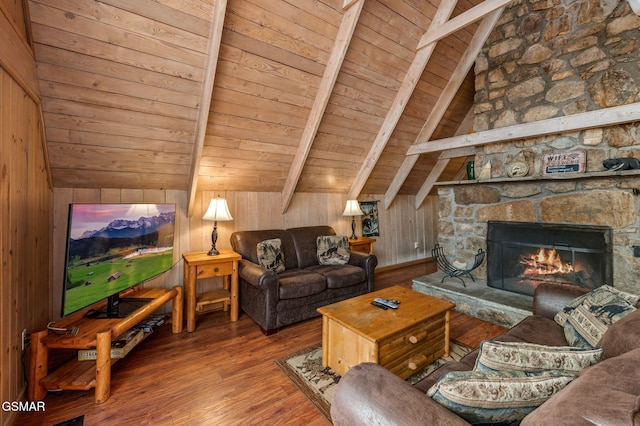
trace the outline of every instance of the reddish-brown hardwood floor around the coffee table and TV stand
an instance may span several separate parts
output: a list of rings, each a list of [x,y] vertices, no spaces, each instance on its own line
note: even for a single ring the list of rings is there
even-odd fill
[[[421,264],[376,273],[376,289],[411,286],[431,272]],[[318,343],[322,320],[264,336],[246,315],[199,315],[194,333],[161,327],[113,367],[111,398],[94,404],[93,390],[50,393],[46,411],[21,415],[16,424],[54,425],[84,415],[85,425],[330,425],[280,371],[278,358]],[[456,312],[453,339],[476,347],[504,328]]]

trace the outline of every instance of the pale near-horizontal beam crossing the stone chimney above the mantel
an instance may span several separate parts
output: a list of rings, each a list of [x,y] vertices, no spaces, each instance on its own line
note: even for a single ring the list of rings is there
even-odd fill
[[[554,133],[575,132],[598,127],[615,126],[640,121],[640,102],[582,112],[563,117],[548,118],[467,135],[422,141],[409,148],[408,155],[439,152],[447,149],[481,146],[516,139],[534,138]]]

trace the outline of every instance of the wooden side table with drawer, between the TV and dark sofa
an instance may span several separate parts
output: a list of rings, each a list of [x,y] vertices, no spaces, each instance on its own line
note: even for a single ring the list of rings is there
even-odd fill
[[[217,256],[209,256],[206,251],[201,251],[183,253],[182,258],[187,331],[196,329],[196,310],[211,303],[224,303],[225,311],[230,306],[231,321],[238,321],[238,262],[242,256],[233,250],[220,250]],[[196,294],[197,280],[210,277],[223,277],[224,288]]]

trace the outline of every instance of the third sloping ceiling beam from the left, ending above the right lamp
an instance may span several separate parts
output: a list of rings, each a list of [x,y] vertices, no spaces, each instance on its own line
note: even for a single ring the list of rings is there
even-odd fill
[[[429,31],[431,28],[439,27],[440,25],[447,22],[451,14],[453,13],[453,9],[456,5],[456,0],[443,0],[436,11],[436,14],[431,21],[431,25],[429,26]],[[367,179],[371,175],[373,168],[375,167],[380,155],[382,155],[382,151],[386,147],[389,142],[389,138],[393,133],[402,113],[404,112],[413,91],[420,81],[422,77],[422,73],[424,72],[429,59],[431,58],[431,54],[435,50],[436,42],[432,42],[421,49],[416,51],[416,55],[413,58],[411,66],[409,70],[404,76],[404,80],[396,93],[396,97],[391,104],[391,108],[387,112],[387,115],[378,131],[376,139],[373,141],[371,149],[367,154],[367,157],[362,162],[362,166],[360,167],[360,171],[355,177],[353,183],[351,184],[351,189],[349,189],[349,193],[347,195],[347,199],[357,199],[358,195],[362,191]]]

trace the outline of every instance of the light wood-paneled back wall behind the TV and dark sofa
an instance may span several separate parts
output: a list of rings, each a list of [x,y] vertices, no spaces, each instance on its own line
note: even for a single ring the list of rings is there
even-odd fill
[[[66,247],[67,218],[70,203],[175,203],[176,241],[172,270],[145,285],[169,288],[182,284],[181,253],[208,250],[211,246],[213,223],[203,221],[211,198],[227,199],[233,216],[231,222],[218,223],[218,248],[231,248],[229,238],[234,231],[254,229],[282,229],[297,226],[330,225],[338,234],[351,234],[351,217],[342,216],[346,196],[342,194],[298,193],[293,197],[286,214],[282,214],[281,196],[277,192],[198,192],[194,213],[186,216],[187,193],[177,190],[142,189],[71,189],[54,190],[54,250],[53,250],[53,306],[59,316],[64,257]],[[382,195],[360,197],[362,201],[382,199]],[[374,246],[379,266],[390,266],[431,256],[436,239],[435,198],[427,198],[416,210],[414,196],[398,196],[390,209],[379,203],[380,236]],[[362,235],[361,223],[356,219],[356,233]],[[414,242],[419,245],[414,248]],[[221,285],[220,280],[202,280],[198,291],[207,291]],[[57,318],[56,316],[56,318]]]

